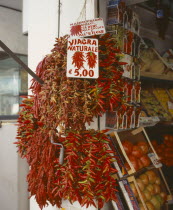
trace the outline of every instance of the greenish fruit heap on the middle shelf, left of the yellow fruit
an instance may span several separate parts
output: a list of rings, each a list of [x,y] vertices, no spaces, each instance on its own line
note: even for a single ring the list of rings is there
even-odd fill
[[[158,116],[163,120],[170,120],[171,116],[164,110],[155,95],[148,89],[141,91],[141,103],[148,116]]]

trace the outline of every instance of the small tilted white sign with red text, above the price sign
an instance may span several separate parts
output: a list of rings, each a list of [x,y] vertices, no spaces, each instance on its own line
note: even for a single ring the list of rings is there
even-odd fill
[[[70,35],[72,37],[93,36],[105,33],[106,31],[102,18],[95,18],[70,24]]]

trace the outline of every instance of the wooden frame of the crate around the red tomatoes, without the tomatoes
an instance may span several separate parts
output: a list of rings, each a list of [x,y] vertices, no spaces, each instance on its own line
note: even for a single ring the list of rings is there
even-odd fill
[[[132,163],[130,162],[130,160],[123,148],[122,142],[124,140],[128,140],[133,144],[135,144],[139,141],[147,142],[147,144],[150,148],[149,153],[154,153],[155,157],[159,160],[159,157],[156,154],[156,152],[150,142],[150,139],[143,127],[133,129],[133,130],[122,131],[122,132],[112,132],[112,133],[110,133],[110,136],[111,136],[112,140],[114,141],[114,143],[116,144],[116,147],[120,151],[120,155],[123,156],[124,161],[127,162],[130,166],[130,170],[128,170],[129,175],[136,173],[137,171],[133,167]],[[151,166],[153,166],[153,164],[151,164]]]

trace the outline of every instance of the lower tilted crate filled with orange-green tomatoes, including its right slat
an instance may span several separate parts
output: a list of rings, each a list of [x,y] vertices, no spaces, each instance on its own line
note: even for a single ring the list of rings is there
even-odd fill
[[[133,177],[135,186],[137,185],[138,192],[140,192],[140,198],[138,201],[147,207],[147,209],[165,209],[164,204],[172,200],[170,189],[167,185],[165,177],[161,168],[145,170]],[[136,193],[133,186],[132,191]],[[144,209],[145,209],[144,208]]]

